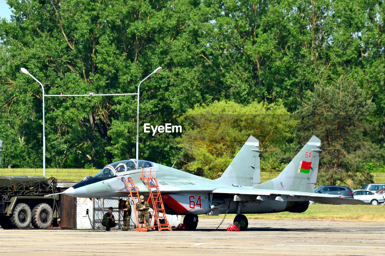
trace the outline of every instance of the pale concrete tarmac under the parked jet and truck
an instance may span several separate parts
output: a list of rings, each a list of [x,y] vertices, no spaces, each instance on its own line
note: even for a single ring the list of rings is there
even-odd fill
[[[385,255],[385,223],[200,219],[196,231],[0,229],[1,255]],[[214,230],[214,231],[213,231]]]

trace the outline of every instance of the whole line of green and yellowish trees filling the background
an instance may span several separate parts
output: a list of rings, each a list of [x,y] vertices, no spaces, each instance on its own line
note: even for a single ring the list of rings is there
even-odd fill
[[[312,134],[320,183],[383,170],[383,1],[8,0],[0,23],[3,166],[42,165],[45,94],[133,93],[139,158],[217,177],[249,135],[279,170]],[[134,96],[45,100],[47,167],[134,158]],[[143,133],[144,123],[184,126]]]

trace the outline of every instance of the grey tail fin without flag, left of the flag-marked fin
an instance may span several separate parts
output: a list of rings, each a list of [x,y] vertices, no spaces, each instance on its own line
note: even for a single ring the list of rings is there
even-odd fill
[[[250,136],[223,175],[216,179],[224,184],[254,186],[261,182],[259,141]]]

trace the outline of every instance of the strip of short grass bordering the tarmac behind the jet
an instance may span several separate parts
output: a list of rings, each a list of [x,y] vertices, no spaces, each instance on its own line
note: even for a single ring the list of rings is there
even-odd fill
[[[227,214],[233,219],[236,214]],[[344,220],[344,221],[385,221],[385,205],[333,205],[311,204],[304,213],[245,214],[248,219],[303,219],[303,220]],[[223,218],[200,215],[199,218]]]

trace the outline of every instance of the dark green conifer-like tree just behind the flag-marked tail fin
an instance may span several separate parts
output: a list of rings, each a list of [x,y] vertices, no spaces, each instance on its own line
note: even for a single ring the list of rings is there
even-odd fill
[[[312,134],[320,138],[319,184],[336,185],[346,179],[358,185],[372,181],[365,162],[383,159],[383,152],[367,136],[373,126],[366,117],[374,109],[357,83],[343,77],[331,85],[316,85],[314,92],[308,93],[295,113],[300,120],[296,138],[306,141]],[[362,173],[362,180],[357,173]]]

